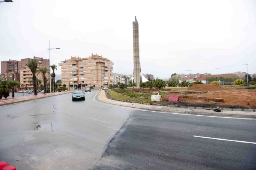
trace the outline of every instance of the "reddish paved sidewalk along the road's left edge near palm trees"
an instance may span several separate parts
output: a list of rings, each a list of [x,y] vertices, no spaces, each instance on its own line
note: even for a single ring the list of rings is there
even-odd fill
[[[14,97],[14,98],[7,98],[7,99],[0,99],[0,106],[10,105],[14,103],[20,103],[24,101],[30,101],[35,99],[42,99],[51,96],[63,95],[66,93],[72,93],[72,91],[63,91],[63,92],[55,92],[55,93],[46,93],[40,95],[31,95],[31,96],[23,96],[23,97]]]

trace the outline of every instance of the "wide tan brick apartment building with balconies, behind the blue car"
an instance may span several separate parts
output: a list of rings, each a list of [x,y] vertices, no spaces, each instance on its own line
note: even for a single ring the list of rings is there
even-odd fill
[[[59,63],[61,66],[62,85],[65,84],[70,90],[78,85],[82,89],[95,85],[95,89],[113,84],[113,62],[100,55],[81,58],[71,57]]]

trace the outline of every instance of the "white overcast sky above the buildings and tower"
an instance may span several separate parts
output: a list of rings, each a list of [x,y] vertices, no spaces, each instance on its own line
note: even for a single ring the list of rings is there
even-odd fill
[[[102,55],[133,72],[132,21],[142,73],[256,73],[255,0],[13,0],[0,3],[0,60]],[[61,74],[60,66],[57,74]]]

